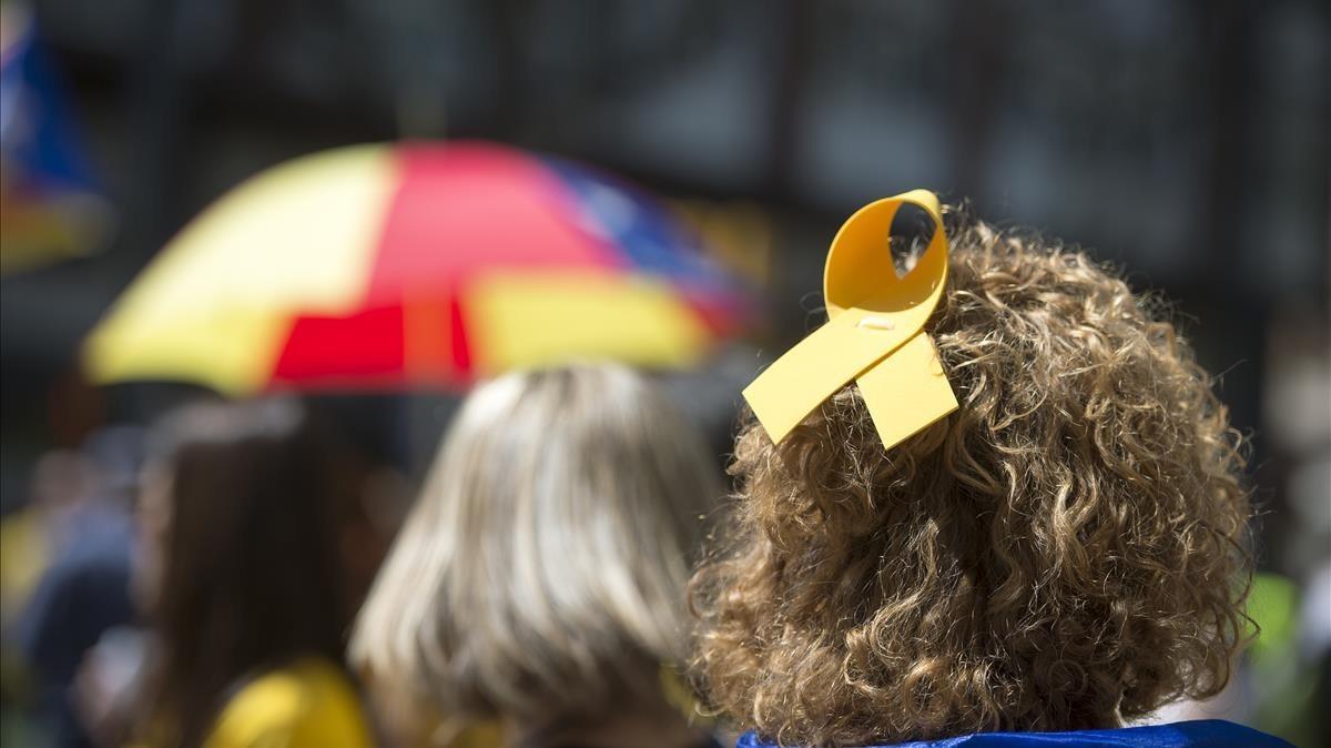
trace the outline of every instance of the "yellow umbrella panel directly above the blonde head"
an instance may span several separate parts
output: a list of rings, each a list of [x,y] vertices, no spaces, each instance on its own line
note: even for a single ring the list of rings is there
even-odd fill
[[[495,374],[578,358],[684,366],[708,335],[667,283],[592,273],[491,276],[465,298],[476,369]]]

